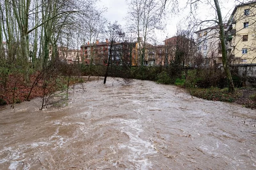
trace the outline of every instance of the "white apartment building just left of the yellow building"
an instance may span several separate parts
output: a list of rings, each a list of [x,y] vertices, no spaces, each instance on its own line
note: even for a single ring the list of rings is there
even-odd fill
[[[195,32],[197,56],[203,56],[204,64],[207,67],[222,63],[219,31],[219,26],[211,26],[204,29],[200,27],[199,31]]]

